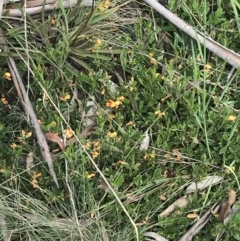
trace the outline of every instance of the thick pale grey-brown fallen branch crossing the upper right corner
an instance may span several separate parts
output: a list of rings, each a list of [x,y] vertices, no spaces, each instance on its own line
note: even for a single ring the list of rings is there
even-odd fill
[[[163,7],[156,0],[144,0],[160,14],[162,14],[166,19],[172,22],[179,29],[187,33],[193,39],[199,41],[202,45],[206,46],[211,52],[216,54],[221,59],[225,60],[227,63],[232,65],[234,68],[240,67],[240,55],[233,52],[232,50],[222,46],[221,44],[215,42],[213,39],[206,36],[206,34],[201,33],[194,29],[191,25],[184,22],[181,18],[170,12],[168,9]]]

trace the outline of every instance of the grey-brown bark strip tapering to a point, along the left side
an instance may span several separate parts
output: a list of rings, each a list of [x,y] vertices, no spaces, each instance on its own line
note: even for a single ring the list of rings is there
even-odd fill
[[[0,29],[0,43],[3,44],[3,48],[4,51],[7,52],[8,51],[8,47],[7,47],[7,42],[4,38],[3,35],[3,31],[2,29]],[[53,177],[54,182],[56,183],[57,187],[59,187],[58,185],[58,181],[57,181],[57,176],[56,173],[54,171],[54,166],[53,166],[53,161],[52,161],[52,157],[49,151],[49,147],[46,141],[46,138],[42,132],[42,129],[38,123],[37,117],[35,115],[35,112],[33,110],[32,104],[28,98],[27,95],[27,91],[26,88],[22,82],[22,78],[17,70],[15,61],[12,57],[7,57],[7,61],[8,61],[8,66],[12,75],[12,79],[14,82],[14,86],[18,92],[18,95],[21,99],[22,105],[24,107],[24,110],[26,112],[27,115],[29,115],[29,118],[31,120],[31,123],[33,125],[33,128],[35,130],[35,134],[37,136],[37,140],[38,140],[38,144],[40,146],[40,152],[42,155],[42,159],[48,164],[48,168],[49,171]]]

